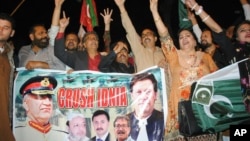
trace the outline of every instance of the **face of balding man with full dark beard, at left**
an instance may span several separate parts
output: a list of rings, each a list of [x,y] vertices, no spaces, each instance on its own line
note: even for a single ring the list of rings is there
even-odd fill
[[[35,32],[30,34],[30,39],[32,40],[33,45],[36,45],[39,48],[46,48],[49,45],[48,33],[43,26],[35,27]]]

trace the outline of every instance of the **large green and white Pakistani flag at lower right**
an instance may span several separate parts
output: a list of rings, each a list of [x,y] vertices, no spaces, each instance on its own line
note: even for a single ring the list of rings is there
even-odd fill
[[[238,63],[195,82],[192,108],[204,132],[220,132],[229,129],[230,125],[249,123],[250,113],[242,97]]]

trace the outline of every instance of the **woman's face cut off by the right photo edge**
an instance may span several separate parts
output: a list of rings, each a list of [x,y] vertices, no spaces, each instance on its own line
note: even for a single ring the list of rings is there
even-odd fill
[[[250,43],[250,24],[242,24],[237,30],[237,40],[239,42]]]

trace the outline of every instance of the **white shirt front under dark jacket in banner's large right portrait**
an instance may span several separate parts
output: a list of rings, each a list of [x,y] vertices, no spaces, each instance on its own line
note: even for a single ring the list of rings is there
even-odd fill
[[[139,120],[138,126],[140,127],[140,131],[137,137],[137,141],[148,141],[148,134],[147,134],[147,120]]]

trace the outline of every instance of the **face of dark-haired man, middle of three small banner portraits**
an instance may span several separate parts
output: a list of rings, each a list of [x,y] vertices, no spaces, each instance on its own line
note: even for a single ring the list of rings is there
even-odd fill
[[[98,115],[93,118],[93,126],[96,134],[99,137],[102,137],[105,133],[108,132],[109,121],[104,114]]]

